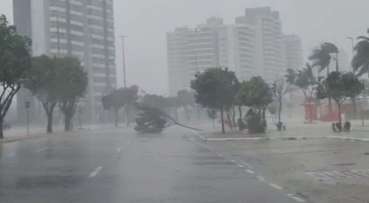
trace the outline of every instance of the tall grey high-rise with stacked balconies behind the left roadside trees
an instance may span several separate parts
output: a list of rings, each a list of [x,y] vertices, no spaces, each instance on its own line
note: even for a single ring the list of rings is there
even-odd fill
[[[89,79],[85,116],[101,118],[102,95],[117,83],[113,0],[13,0],[13,6],[14,24],[32,39],[34,56],[79,58]]]

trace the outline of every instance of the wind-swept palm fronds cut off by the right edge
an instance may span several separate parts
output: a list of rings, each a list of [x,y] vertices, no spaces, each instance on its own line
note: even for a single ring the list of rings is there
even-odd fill
[[[369,34],[369,29],[367,33]],[[364,73],[369,74],[369,37],[360,36],[357,39],[359,42],[354,47],[355,56],[351,65],[357,76],[362,76]]]

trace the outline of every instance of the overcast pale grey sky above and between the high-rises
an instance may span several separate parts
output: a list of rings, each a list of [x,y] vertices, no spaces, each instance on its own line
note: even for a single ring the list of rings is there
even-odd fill
[[[12,15],[12,0],[0,0],[0,13]],[[246,7],[271,6],[280,11],[285,33],[301,36],[304,55],[322,42],[336,42],[350,53],[345,37],[366,34],[369,0],[114,0],[116,35],[128,35],[125,55],[128,85],[151,93],[168,90],[166,31],[194,27],[211,16],[226,24],[244,15]],[[122,46],[116,41],[119,86],[122,86]]]

